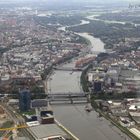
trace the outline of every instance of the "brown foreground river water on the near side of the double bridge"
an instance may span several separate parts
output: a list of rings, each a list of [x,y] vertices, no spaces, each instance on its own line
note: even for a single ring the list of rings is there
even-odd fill
[[[131,140],[98,113],[85,111],[85,105],[52,106],[57,120],[80,140]]]

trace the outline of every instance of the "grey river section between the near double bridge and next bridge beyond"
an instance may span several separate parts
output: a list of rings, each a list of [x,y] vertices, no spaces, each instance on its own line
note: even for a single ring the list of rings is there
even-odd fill
[[[49,82],[51,93],[80,93],[80,75],[81,72],[55,71]]]

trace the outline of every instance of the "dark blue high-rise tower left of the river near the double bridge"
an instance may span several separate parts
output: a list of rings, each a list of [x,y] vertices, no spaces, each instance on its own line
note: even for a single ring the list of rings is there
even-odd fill
[[[20,111],[28,111],[30,109],[31,94],[29,90],[21,90],[19,93],[19,109]]]

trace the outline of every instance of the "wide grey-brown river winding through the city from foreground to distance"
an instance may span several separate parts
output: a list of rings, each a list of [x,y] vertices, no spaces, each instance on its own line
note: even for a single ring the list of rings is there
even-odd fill
[[[61,27],[59,30],[65,31],[66,27]],[[90,44],[90,55],[97,55],[100,52],[105,52],[104,43],[88,33],[78,33],[86,38]],[[88,55],[88,54],[87,54]],[[76,60],[73,59],[70,63],[64,64],[61,67],[75,67]],[[54,71],[54,74],[49,80],[50,92],[80,92],[81,72]],[[71,131],[79,140],[130,140],[118,128],[110,124],[104,118],[98,118],[98,113],[85,111],[85,104],[71,105],[52,105],[56,119],[62,123],[69,131]]]

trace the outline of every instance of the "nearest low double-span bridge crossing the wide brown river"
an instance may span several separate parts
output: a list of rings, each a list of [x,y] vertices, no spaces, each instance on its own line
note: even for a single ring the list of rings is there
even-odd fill
[[[47,94],[50,104],[80,104],[89,101],[88,93],[52,93]]]

